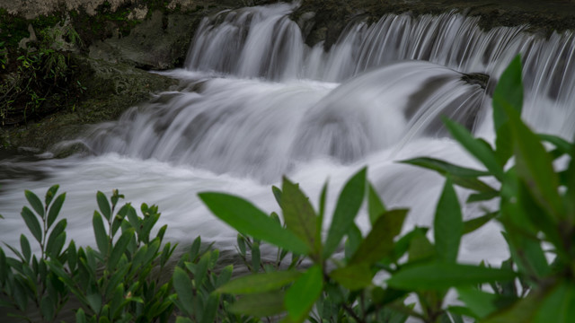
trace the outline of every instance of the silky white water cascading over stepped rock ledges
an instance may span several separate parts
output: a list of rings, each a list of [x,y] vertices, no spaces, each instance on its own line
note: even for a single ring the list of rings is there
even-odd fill
[[[457,13],[390,14],[373,25],[349,25],[326,52],[321,43],[305,45],[289,19],[296,5],[206,18],[185,69],[164,73],[180,86],[91,127],[75,143],[92,154],[0,161],[0,240],[17,244],[24,231],[17,215],[23,189],[43,194],[59,183],[68,192],[62,213],[76,244],[93,244],[95,191],[119,188],[134,204],[160,205],[169,239],[185,244],[201,235],[233,248],[234,231],[199,203],[199,191],[238,194],[272,211],[270,184],[286,174],[313,201],[330,179],[333,205],[343,181],[364,165],[387,205],[410,207],[411,225],[429,225],[443,179],[395,161],[425,155],[476,166],[447,137],[440,117],[492,140],[489,93],[517,53],[524,118],[540,132],[568,139],[575,133],[571,32],[542,39],[523,28],[484,32],[477,18]],[[472,74],[491,79],[473,82]],[[465,217],[479,208],[465,206]],[[358,222],[366,227],[365,216]],[[473,249],[475,261],[497,261],[507,253],[496,248],[500,242],[491,226],[466,237],[463,247]]]

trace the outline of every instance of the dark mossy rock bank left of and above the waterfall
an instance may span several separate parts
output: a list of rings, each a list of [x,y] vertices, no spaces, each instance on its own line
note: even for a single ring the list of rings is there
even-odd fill
[[[0,144],[46,151],[57,142],[75,138],[86,124],[118,118],[125,109],[148,100],[151,93],[177,83],[147,71],[183,65],[202,17],[246,4],[266,3],[273,2],[0,3],[1,86],[4,93],[15,93],[13,97],[4,94],[4,101],[0,102],[3,118]],[[292,19],[303,27],[308,45],[324,41],[325,47],[330,48],[354,19],[376,22],[385,13],[420,15],[451,11],[480,16],[484,30],[527,24],[529,31],[544,37],[553,31],[575,29],[575,4],[571,1],[303,0]],[[72,39],[67,31],[75,31],[77,39]],[[52,35],[51,39],[47,35]],[[42,48],[57,53],[55,57],[65,57],[66,66],[54,69],[62,76],[58,79],[38,67],[32,71],[39,78],[38,84],[25,87],[22,84],[32,72],[22,67],[19,57],[39,57]],[[42,62],[39,58],[38,65]],[[57,86],[53,85],[56,83]]]

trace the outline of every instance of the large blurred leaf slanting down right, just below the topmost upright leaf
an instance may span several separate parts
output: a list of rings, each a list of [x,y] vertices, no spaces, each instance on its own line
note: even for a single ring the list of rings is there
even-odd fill
[[[553,160],[539,137],[521,121],[517,111],[506,110],[515,142],[517,175],[526,182],[537,202],[556,220],[562,218],[563,205],[559,196],[559,178],[553,170]]]

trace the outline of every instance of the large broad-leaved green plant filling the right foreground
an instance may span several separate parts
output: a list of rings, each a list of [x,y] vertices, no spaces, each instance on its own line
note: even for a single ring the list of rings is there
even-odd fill
[[[428,238],[428,228],[414,228],[398,237],[407,210],[386,210],[367,183],[366,170],[358,171],[342,189],[325,239],[326,188],[315,211],[298,186],[284,179],[281,190],[273,190],[284,225],[241,197],[200,193],[213,214],[243,235],[309,261],[303,272],[289,268],[247,275],[217,292],[240,297],[234,312],[283,315],[283,322],[401,322],[408,316],[424,322],[461,322],[463,317],[568,322],[575,317],[575,148],[557,136],[535,135],[522,122],[521,78],[517,57],[493,95],[494,148],[445,120],[456,141],[486,170],[426,157],[404,161],[446,176],[435,214],[434,242]],[[554,149],[546,151],[543,142]],[[553,160],[565,154],[571,163],[565,170],[555,170]],[[511,157],[514,164],[509,163]],[[500,189],[482,177],[499,180]],[[500,209],[464,222],[454,184],[474,191],[467,203],[499,197]],[[366,237],[354,224],[364,199],[372,223]],[[491,219],[503,224],[511,258],[499,268],[458,263],[462,236]],[[333,257],[344,238],[344,255]],[[544,250],[544,245],[553,248]],[[551,263],[548,257],[553,258]],[[375,284],[376,273],[389,278]],[[456,290],[464,306],[445,303],[449,290]],[[417,304],[405,303],[409,295]]]

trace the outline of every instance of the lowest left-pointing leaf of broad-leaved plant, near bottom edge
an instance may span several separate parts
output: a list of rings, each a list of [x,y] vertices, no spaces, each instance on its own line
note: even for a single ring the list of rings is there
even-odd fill
[[[245,295],[229,307],[229,310],[237,314],[266,317],[277,315],[284,310],[285,292],[264,292]]]

